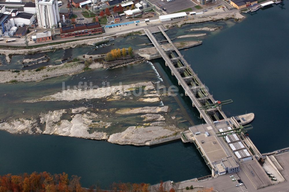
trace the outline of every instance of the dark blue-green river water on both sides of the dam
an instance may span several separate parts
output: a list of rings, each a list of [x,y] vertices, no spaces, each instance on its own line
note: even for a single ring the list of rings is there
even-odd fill
[[[229,20],[184,25],[182,28],[168,30],[167,34],[174,38],[184,34],[207,33],[199,38],[188,38],[203,40],[203,45],[183,50],[185,59],[209,87],[215,99],[234,101],[223,107],[228,116],[244,114],[246,111],[255,113],[255,120],[251,123],[254,129],[249,131],[250,138],[261,152],[267,152],[289,146],[286,126],[289,106],[289,13],[274,6],[259,10],[255,15],[245,16],[247,18],[238,23]],[[214,32],[190,31],[202,26],[223,28]],[[75,48],[70,54],[59,51],[59,57],[51,61],[60,62],[64,57],[81,57],[87,53],[101,54],[110,48],[142,48],[146,46],[140,44],[148,42],[143,36],[120,38],[111,47],[103,49],[94,50],[92,46],[87,46]],[[20,56],[13,57],[13,65],[20,65],[20,69]],[[154,60],[153,64],[165,86],[177,85],[170,71],[164,67],[162,59]],[[8,66],[3,69],[9,69]],[[41,82],[0,84],[0,118],[31,118],[37,117],[40,112],[84,106],[82,102],[68,101],[23,103],[27,99],[61,91],[63,81],[67,85],[77,85],[79,81],[93,81],[98,85],[109,81],[116,85],[118,81],[129,84],[148,80],[157,82],[160,78],[151,65],[137,64],[109,71],[87,71]],[[114,102],[112,105],[121,107],[122,104]],[[191,120],[185,125],[202,123],[197,110],[191,108],[188,98],[179,95],[168,97],[164,104],[173,109],[172,113],[189,117]],[[106,107],[104,103],[96,101],[90,105]],[[181,141],[154,147],[136,147],[55,135],[13,135],[0,131],[0,153],[0,174],[67,172],[69,175],[81,176],[81,182],[86,187],[97,181],[105,187],[118,181],[153,184],[160,180],[180,181],[210,174],[194,145],[183,144]]]

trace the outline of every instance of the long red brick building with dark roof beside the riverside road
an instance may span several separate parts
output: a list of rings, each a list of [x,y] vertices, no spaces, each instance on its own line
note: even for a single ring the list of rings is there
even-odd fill
[[[99,33],[102,33],[102,29],[98,22],[74,24],[60,28],[61,38],[95,35]]]

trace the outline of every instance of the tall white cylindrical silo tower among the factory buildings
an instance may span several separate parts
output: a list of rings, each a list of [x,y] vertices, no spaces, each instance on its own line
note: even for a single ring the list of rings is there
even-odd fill
[[[53,28],[60,21],[57,0],[36,0],[38,26],[44,29]]]

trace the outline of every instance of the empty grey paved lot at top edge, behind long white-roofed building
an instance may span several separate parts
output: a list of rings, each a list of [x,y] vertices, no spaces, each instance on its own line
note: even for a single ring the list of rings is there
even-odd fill
[[[174,0],[170,2],[161,0],[151,0],[150,2],[153,3],[156,7],[160,7],[159,5],[161,5],[162,7],[166,8],[165,11],[166,13],[176,12],[197,5],[191,0]]]

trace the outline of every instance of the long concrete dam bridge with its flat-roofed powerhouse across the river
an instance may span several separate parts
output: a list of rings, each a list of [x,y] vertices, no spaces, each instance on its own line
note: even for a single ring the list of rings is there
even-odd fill
[[[221,105],[214,105],[214,103],[219,103],[219,101],[216,101],[207,91],[197,74],[194,73],[190,65],[175,47],[168,35],[166,35],[164,30],[161,27],[158,28],[166,38],[167,42],[171,44],[172,50],[170,50],[170,53],[173,51],[175,58],[169,57],[168,51],[164,50],[152,35],[149,28],[143,30],[164,59],[166,66],[171,69],[172,75],[177,78],[178,84],[184,89],[186,96],[191,99],[192,106],[197,108],[200,117],[206,122],[206,124],[203,125],[190,127],[189,131],[191,133],[185,131],[184,134],[181,134],[182,140],[187,142],[187,137],[189,137],[190,140],[194,142],[207,165],[212,170],[213,177],[221,175],[219,171],[221,168],[217,164],[221,161],[228,161],[230,158],[230,161],[232,162],[233,159],[240,168],[240,172],[238,172],[239,170],[237,171],[238,175],[242,179],[246,177],[247,180],[250,180],[255,189],[275,184],[275,182],[271,181],[271,178],[267,176],[264,169],[257,161],[262,157],[262,155],[253,142],[247,138],[242,131],[237,132],[237,128],[242,127],[242,125],[239,124],[235,117],[228,118],[221,110]],[[182,66],[176,66],[176,60],[181,63]],[[190,74],[186,74],[185,77],[184,75],[182,76],[181,74],[183,74],[184,71],[181,69],[186,69]],[[191,86],[191,80],[194,80],[197,84],[192,84]],[[204,94],[203,97],[197,98],[196,90],[201,90]],[[204,104],[204,101],[209,102],[210,104],[207,104],[207,106],[212,106],[212,108],[206,108],[204,110],[204,106],[206,105]],[[211,117],[214,112],[217,112],[222,119],[214,121]],[[226,136],[218,135],[220,132],[226,132],[227,134],[225,134]],[[215,150],[212,150],[212,148]]]

